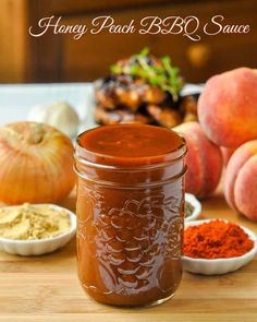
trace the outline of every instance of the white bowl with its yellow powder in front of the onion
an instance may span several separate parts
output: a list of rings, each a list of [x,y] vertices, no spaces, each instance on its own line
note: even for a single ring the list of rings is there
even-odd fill
[[[0,208],[0,250],[11,254],[40,255],[66,245],[75,235],[76,216],[54,204]]]

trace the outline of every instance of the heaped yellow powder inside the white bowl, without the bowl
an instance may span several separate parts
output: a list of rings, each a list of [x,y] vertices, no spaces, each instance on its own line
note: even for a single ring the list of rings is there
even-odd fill
[[[49,205],[28,203],[0,208],[0,237],[9,239],[45,239],[70,230],[71,219],[65,211]]]

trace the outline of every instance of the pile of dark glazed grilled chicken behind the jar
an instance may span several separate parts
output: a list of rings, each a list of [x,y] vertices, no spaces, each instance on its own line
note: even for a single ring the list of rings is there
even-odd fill
[[[174,100],[168,91],[149,84],[143,77],[147,65],[148,70],[162,68],[163,61],[144,52],[119,60],[108,77],[95,83],[95,120],[100,124],[155,123],[166,128],[196,121],[199,94],[179,95]]]

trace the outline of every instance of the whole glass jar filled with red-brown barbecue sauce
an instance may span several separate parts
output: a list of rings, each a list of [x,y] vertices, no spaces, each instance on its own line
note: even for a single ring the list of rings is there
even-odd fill
[[[154,126],[99,127],[76,141],[77,262],[97,301],[151,306],[182,277],[185,141]]]

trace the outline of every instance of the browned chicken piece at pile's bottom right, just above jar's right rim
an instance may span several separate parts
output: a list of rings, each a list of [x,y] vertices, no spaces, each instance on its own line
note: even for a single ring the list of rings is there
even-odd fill
[[[179,111],[171,109],[170,107],[149,105],[146,109],[154,120],[161,127],[170,129],[182,122]]]

